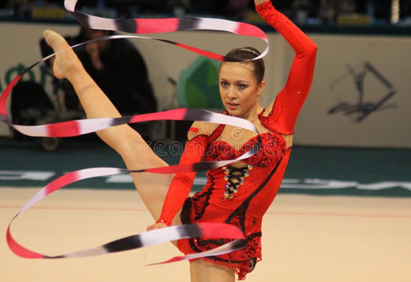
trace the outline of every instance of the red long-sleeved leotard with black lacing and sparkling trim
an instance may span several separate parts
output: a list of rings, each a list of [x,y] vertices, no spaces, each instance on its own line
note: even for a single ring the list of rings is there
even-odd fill
[[[203,258],[235,268],[239,280],[245,279],[256,262],[261,260],[261,221],[282,182],[291,153],[282,135],[293,134],[296,117],[311,87],[316,56],[315,44],[286,16],[275,10],[270,1],[257,6],[256,10],[295,51],[285,88],[278,93],[267,113],[266,110],[259,113],[259,122],[254,122],[260,132],[262,149],[237,165],[208,171],[207,184],[201,192],[188,199],[195,172],[176,174],[157,221],[171,225],[184,204],[181,212],[183,224],[213,221],[242,228],[248,238],[244,249]],[[242,137],[236,138],[235,130],[231,126],[194,123],[180,164],[200,162],[203,156],[212,161],[234,159],[244,154],[250,145],[257,142],[257,136],[246,138],[246,142],[235,146],[234,143]],[[231,136],[231,139],[225,136]],[[188,254],[227,242],[210,238],[183,239],[179,240],[178,248]]]

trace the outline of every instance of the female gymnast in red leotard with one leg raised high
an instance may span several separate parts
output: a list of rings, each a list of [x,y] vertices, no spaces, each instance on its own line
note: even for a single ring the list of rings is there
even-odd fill
[[[261,221],[271,205],[291,153],[294,124],[311,87],[316,45],[269,0],[254,0],[257,12],[277,30],[295,51],[284,89],[263,108],[258,98],[264,90],[262,59],[245,63],[224,62],[219,69],[219,91],[225,115],[241,117],[260,133],[261,150],[252,157],[228,167],[207,172],[201,192],[188,198],[195,172],[174,175],[132,174],[134,184],[156,221],[147,230],[171,225],[219,222],[240,227],[247,237],[243,249],[190,263],[191,281],[235,281],[245,279],[261,260]],[[68,48],[59,34],[46,30],[46,42],[54,52]],[[252,48],[237,48],[226,56],[252,59],[260,53]],[[67,78],[76,90],[88,118],[120,117],[106,95],[84,70],[70,49],[57,54],[54,75]],[[99,137],[123,158],[128,169],[167,166],[128,125],[98,131]],[[228,125],[194,122],[180,164],[234,159],[257,143],[255,133]],[[130,154],[129,144],[144,147],[141,154]],[[134,147],[135,149],[136,147]],[[184,254],[202,252],[227,243],[222,239],[182,239],[176,245]]]

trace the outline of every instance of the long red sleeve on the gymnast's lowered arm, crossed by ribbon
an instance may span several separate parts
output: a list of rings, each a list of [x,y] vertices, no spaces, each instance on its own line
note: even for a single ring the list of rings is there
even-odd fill
[[[207,135],[197,135],[189,140],[184,147],[180,158],[180,164],[193,164],[201,162],[208,145]],[[169,187],[164,200],[163,209],[157,223],[165,223],[171,226],[178,210],[184,204],[184,200],[193,186],[196,172],[177,173]]]

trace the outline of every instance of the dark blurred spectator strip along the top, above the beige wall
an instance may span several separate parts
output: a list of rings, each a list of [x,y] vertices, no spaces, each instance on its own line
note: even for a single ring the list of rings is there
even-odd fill
[[[409,0],[292,0],[275,1],[275,7],[300,24],[409,25]],[[62,0],[6,0],[0,4],[3,18],[9,19],[69,19]],[[84,0],[77,8],[98,11],[113,17],[164,17],[182,14],[208,15],[260,21],[255,16],[254,3],[249,0]],[[351,17],[351,19],[347,19]]]

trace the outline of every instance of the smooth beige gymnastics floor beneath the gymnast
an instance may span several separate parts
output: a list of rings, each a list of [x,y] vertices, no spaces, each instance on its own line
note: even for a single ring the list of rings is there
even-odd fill
[[[0,187],[0,280],[189,281],[170,243],[97,257],[24,259],[6,244],[10,220],[41,187]],[[133,190],[63,189],[18,216],[23,246],[46,255],[95,247],[153,223]],[[263,260],[246,281],[410,281],[411,198],[278,194],[263,222]]]

